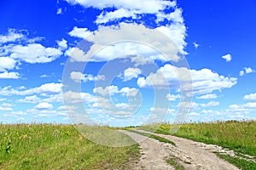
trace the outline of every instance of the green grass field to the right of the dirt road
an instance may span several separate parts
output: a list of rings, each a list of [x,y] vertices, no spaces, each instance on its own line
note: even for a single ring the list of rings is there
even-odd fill
[[[157,130],[155,127],[159,126]],[[172,124],[145,125],[139,127],[155,133],[170,134]],[[236,153],[256,156],[256,122],[255,121],[230,121],[210,123],[183,124],[173,134],[178,137],[200,141],[206,144],[218,144],[224,148],[235,150]],[[241,161],[230,156],[221,156],[241,169],[256,169],[256,163]]]

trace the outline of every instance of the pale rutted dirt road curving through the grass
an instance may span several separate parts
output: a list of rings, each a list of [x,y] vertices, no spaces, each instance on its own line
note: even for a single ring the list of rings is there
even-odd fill
[[[142,130],[138,130],[145,132]],[[154,133],[162,138],[172,140],[176,146],[150,139],[137,133],[121,131],[129,135],[140,144],[141,157],[138,162],[132,165],[135,170],[171,170],[174,169],[166,163],[166,159],[172,158],[189,170],[236,170],[234,165],[224,161],[212,151],[221,151],[216,145],[203,144],[189,139],[178,138],[171,135]],[[147,132],[148,133],[148,132]]]

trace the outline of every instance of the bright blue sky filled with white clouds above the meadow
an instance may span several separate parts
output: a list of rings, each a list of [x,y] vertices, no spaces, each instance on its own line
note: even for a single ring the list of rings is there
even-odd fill
[[[0,122],[256,119],[256,2],[0,2]]]

